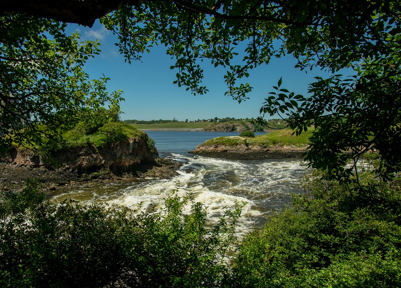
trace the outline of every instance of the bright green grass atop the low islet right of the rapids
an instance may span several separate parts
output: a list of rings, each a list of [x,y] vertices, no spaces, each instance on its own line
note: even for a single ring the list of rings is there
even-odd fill
[[[309,137],[314,129],[311,128],[307,132],[301,133],[298,137],[292,135],[294,131],[289,129],[277,130],[265,135],[258,135],[255,138],[244,138],[244,137],[217,137],[205,141],[206,145],[226,145],[226,146],[237,146],[237,145],[294,145],[304,146],[309,144]]]

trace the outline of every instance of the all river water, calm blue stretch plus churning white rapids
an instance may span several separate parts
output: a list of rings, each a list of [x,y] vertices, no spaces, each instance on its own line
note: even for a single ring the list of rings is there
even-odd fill
[[[300,193],[299,177],[306,168],[300,159],[226,160],[187,153],[196,145],[219,136],[239,132],[147,131],[156,141],[160,156],[184,163],[173,179],[141,179],[122,183],[90,184],[57,191],[53,201],[72,198],[106,201],[146,209],[162,207],[164,199],[178,185],[178,194],[192,193],[194,200],[207,206],[210,222],[215,222],[237,202],[245,202],[241,232],[259,226],[267,215],[290,205],[291,194]],[[263,133],[261,133],[263,134]],[[190,207],[186,207],[190,209]]]

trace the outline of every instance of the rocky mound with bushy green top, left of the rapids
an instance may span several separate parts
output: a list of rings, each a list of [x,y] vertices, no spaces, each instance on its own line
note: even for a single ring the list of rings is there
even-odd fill
[[[50,141],[50,139],[44,139]],[[0,154],[0,190],[21,190],[28,179],[44,189],[82,182],[170,178],[182,163],[158,157],[153,139],[121,122],[79,123],[53,147],[12,147]]]

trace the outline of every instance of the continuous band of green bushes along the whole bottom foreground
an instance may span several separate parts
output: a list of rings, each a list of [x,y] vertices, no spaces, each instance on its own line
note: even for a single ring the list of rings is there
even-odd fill
[[[369,287],[401,284],[399,179],[378,181],[375,155],[352,184],[314,170],[305,193],[235,237],[242,205],[212,227],[191,195],[144,211],[66,199],[34,181],[0,203],[2,287]],[[184,206],[190,212],[184,213]]]

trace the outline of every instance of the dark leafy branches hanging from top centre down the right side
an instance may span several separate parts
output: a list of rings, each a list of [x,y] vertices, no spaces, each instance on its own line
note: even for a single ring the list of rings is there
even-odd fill
[[[193,94],[208,91],[201,82],[205,60],[226,69],[226,95],[239,102],[252,87],[238,80],[271,57],[292,54],[301,70],[329,70],[332,76],[317,77],[307,96],[282,88],[280,78],[260,112],[288,118],[297,135],[314,125],[306,159],[350,181],[348,162],[369,150],[380,151],[377,173],[401,168],[400,10],[392,0],[175,0],[124,7],[101,22],[119,36],[128,61],[164,44],[176,60],[175,83]]]

